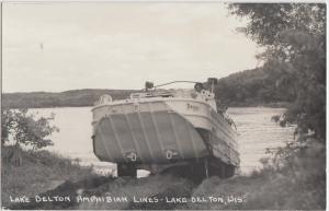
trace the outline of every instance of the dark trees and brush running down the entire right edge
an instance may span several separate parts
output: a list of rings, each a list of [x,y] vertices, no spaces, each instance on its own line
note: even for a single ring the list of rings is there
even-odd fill
[[[262,69],[293,101],[280,125],[296,124],[297,139],[274,151],[273,173],[285,175],[281,187],[293,187],[307,202],[291,199],[287,206],[298,201],[293,209],[325,209],[326,4],[238,3],[229,9],[248,19],[238,31],[266,49],[258,56]]]

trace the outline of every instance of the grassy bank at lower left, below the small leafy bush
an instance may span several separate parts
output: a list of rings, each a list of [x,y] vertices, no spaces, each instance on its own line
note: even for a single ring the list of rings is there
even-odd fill
[[[48,151],[23,151],[14,146],[2,146],[1,200],[9,207],[10,196],[34,197],[55,188],[65,180],[94,177],[90,167],[72,164],[69,159]]]

